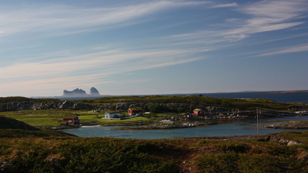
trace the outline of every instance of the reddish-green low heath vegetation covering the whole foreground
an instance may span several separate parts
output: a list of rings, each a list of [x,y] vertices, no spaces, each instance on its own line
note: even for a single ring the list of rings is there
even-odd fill
[[[307,142],[308,131],[277,135]],[[261,139],[0,139],[5,172],[308,172],[307,159],[307,143]]]

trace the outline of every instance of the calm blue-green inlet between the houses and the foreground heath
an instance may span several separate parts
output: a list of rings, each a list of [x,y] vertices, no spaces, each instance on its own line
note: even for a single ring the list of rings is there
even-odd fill
[[[296,117],[268,117],[259,118],[259,134],[269,134],[282,131],[294,131],[295,129],[268,129],[264,126],[282,123],[290,120],[298,120]],[[196,121],[186,121],[196,122]],[[200,121],[199,121],[200,122]],[[228,119],[205,120],[202,122],[230,122],[231,124],[218,124],[195,128],[160,129],[160,130],[127,130],[128,127],[84,127],[65,129],[64,132],[83,137],[115,137],[136,139],[164,139],[164,138],[188,138],[188,137],[214,137],[228,135],[254,135],[257,134],[257,119]],[[129,126],[132,127],[132,126]],[[303,131],[297,130],[297,131]]]

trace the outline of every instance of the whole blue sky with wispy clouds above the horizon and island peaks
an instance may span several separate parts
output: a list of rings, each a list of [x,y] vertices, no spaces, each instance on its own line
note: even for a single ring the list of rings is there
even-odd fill
[[[308,0],[0,3],[0,97],[308,89]]]

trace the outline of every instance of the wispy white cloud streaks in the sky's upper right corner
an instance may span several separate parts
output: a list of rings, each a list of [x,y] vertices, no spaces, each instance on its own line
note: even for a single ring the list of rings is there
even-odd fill
[[[305,21],[294,21],[305,15],[307,1],[261,1],[235,7],[235,11],[246,18],[225,19],[222,27],[176,34],[168,37],[170,45],[204,46],[217,49],[220,46],[232,46],[251,35],[299,26]]]

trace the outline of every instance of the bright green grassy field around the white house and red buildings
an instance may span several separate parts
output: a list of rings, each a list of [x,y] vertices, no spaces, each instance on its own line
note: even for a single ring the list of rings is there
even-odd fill
[[[29,125],[35,127],[54,127],[59,126],[59,120],[65,115],[75,115],[77,114],[80,123],[98,123],[98,124],[108,124],[108,123],[122,123],[129,121],[139,121],[139,117],[133,117],[125,120],[105,120],[103,113],[98,113],[96,121],[96,113],[84,110],[24,110],[24,111],[14,111],[14,112],[0,112],[0,116],[8,116],[16,120],[25,122]],[[123,115],[127,115],[127,112],[123,112]],[[141,120],[148,121],[150,118],[141,117]]]

